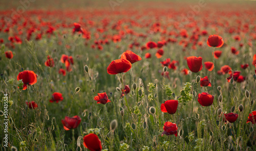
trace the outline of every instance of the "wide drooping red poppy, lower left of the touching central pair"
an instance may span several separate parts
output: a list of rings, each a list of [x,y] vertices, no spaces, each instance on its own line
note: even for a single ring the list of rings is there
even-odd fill
[[[132,63],[126,59],[117,59],[110,63],[106,70],[109,74],[118,74],[127,72],[131,69]]]

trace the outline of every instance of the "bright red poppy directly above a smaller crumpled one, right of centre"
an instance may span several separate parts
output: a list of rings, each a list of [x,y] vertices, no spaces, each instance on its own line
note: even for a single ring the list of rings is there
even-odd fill
[[[166,100],[164,104],[161,104],[161,111],[163,113],[175,114],[178,108],[178,100]]]

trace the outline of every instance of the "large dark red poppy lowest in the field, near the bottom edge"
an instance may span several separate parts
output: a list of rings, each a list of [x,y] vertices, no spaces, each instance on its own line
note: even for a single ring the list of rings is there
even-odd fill
[[[96,134],[88,134],[83,137],[83,145],[91,151],[100,151],[101,142]]]

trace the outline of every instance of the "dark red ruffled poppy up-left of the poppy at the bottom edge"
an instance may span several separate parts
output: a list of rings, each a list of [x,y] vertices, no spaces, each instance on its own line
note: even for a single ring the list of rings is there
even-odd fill
[[[69,131],[70,129],[75,129],[78,127],[78,125],[81,122],[81,118],[79,116],[73,116],[73,117],[68,117],[65,116],[65,119],[61,119],[61,123],[63,124],[63,128],[66,131]]]

